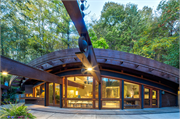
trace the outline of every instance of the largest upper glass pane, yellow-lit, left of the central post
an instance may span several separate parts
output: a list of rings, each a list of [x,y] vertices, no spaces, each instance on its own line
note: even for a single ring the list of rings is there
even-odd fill
[[[68,77],[69,81],[75,82],[67,87],[67,98],[93,98],[93,78],[87,76]],[[82,87],[79,87],[80,84]]]

